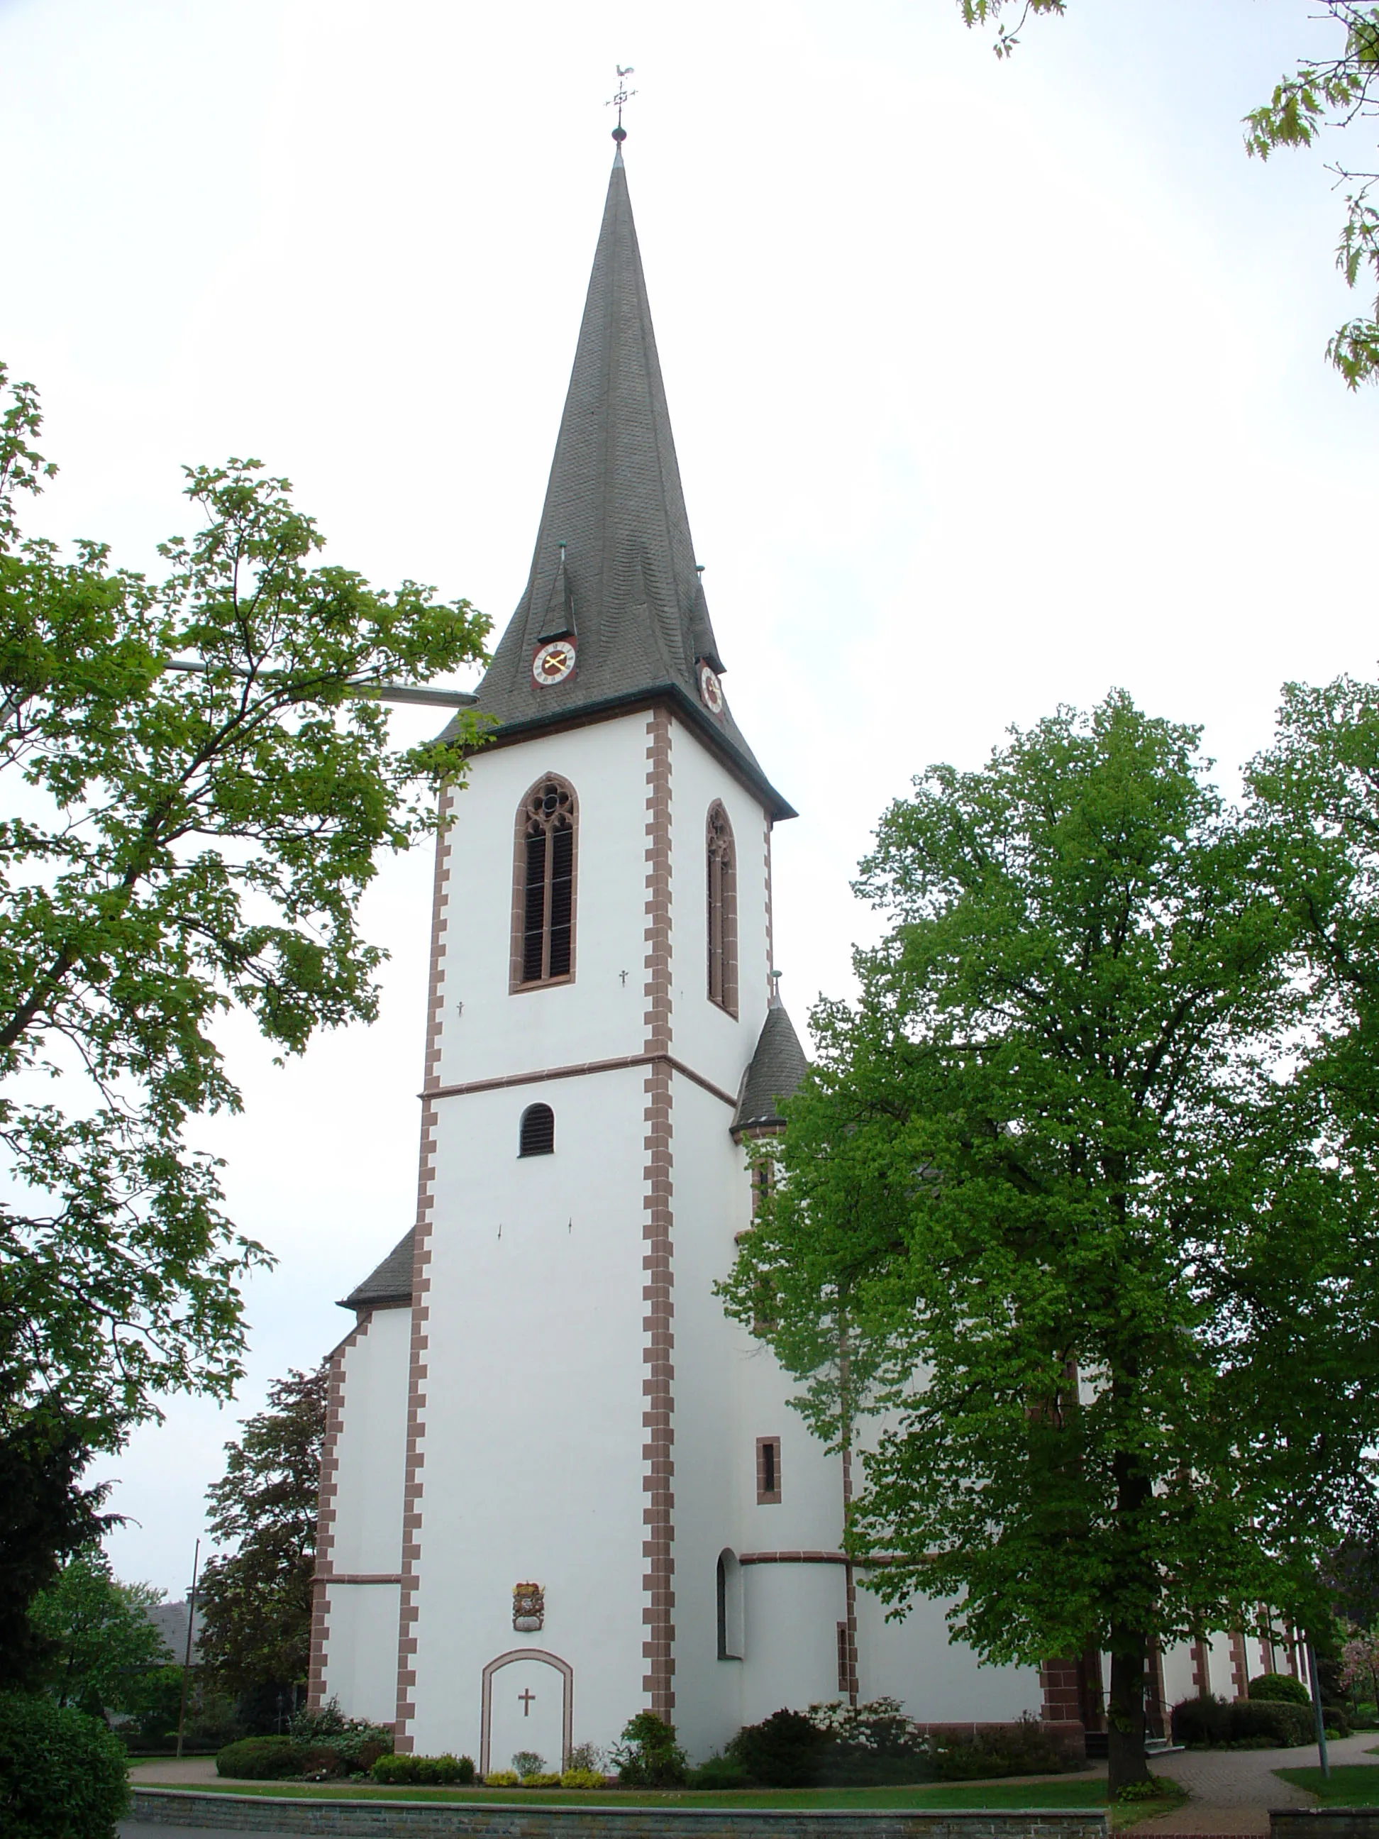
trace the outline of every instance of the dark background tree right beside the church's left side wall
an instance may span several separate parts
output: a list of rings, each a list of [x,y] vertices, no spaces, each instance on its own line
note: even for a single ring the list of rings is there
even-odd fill
[[[307,1679],[325,1383],[324,1366],[278,1379],[268,1409],[224,1445],[224,1475],[206,1490],[211,1536],[235,1550],[202,1572],[200,1657],[228,1692]]]

